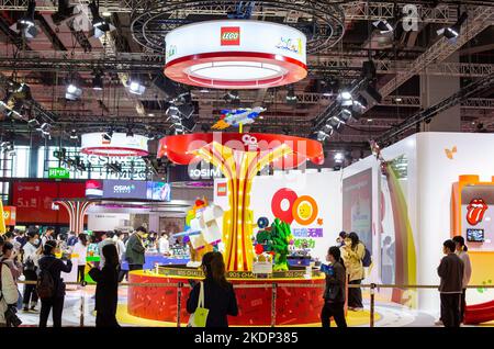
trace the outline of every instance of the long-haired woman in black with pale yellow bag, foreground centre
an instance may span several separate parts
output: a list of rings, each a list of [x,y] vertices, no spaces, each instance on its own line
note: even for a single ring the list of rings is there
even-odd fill
[[[227,315],[237,316],[237,299],[233,285],[226,281],[226,269],[221,252],[207,252],[202,257],[205,279],[204,305],[209,309],[205,327],[228,327]],[[187,312],[193,314],[198,307],[201,284],[197,283],[187,301]]]

